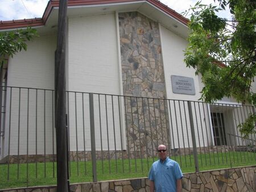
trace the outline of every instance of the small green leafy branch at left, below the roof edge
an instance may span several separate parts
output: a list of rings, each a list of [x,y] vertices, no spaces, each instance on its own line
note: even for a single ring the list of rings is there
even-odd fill
[[[27,50],[26,41],[37,36],[35,29],[28,27],[26,30],[16,30],[0,33],[0,66],[6,62],[5,57],[11,56],[24,49]]]

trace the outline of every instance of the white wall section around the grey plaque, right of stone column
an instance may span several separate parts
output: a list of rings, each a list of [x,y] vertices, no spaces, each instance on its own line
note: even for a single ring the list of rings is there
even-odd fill
[[[202,87],[200,77],[195,75],[195,69],[187,68],[183,61],[183,51],[187,47],[187,40],[185,40],[183,37],[174,34],[174,32],[167,30],[163,26],[160,26],[160,37],[162,43],[167,98],[185,101],[198,101],[199,98],[201,97],[200,91]],[[172,93],[172,75],[193,78],[195,83],[196,94],[187,95]],[[173,124],[173,130],[171,130],[171,137],[175,141],[174,144],[172,142],[172,145],[175,145],[172,147],[192,147],[191,124],[188,118],[188,103],[183,103],[182,101],[180,103],[178,101],[171,101],[170,106]],[[175,108],[176,114],[174,111]],[[196,131],[195,136],[197,147],[206,147],[212,143],[212,138],[210,137],[210,124],[207,113],[207,105],[203,106],[202,103],[198,105],[197,102],[194,105],[194,103],[192,103],[192,112],[193,124]],[[195,114],[197,114],[197,116]],[[177,143],[180,144],[178,145]]]

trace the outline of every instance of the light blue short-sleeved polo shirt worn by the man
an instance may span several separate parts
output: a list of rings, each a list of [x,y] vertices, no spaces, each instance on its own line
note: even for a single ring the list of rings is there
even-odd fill
[[[156,192],[176,192],[176,180],[182,177],[179,164],[169,157],[164,162],[155,161],[148,174],[148,180],[154,181]]]

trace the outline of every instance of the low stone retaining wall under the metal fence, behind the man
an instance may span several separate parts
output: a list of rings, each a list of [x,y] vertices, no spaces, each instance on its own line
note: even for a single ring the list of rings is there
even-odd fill
[[[212,170],[200,173],[186,173],[182,179],[182,191],[188,192],[224,192],[224,191],[256,191],[256,166],[243,168]],[[29,187],[0,190],[3,192],[56,192],[56,186]],[[72,192],[149,192],[150,181],[137,178],[119,181],[102,181],[75,183]]]

